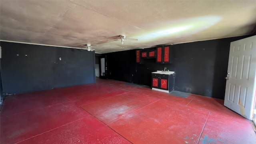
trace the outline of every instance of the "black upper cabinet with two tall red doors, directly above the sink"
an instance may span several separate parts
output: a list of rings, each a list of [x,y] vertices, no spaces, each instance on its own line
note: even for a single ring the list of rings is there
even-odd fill
[[[156,47],[156,63],[160,63],[160,64],[172,63],[172,48],[170,46]]]

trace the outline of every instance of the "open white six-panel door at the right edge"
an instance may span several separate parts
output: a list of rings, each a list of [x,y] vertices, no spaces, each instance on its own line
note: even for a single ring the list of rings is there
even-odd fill
[[[224,105],[252,120],[256,90],[256,36],[230,43]]]

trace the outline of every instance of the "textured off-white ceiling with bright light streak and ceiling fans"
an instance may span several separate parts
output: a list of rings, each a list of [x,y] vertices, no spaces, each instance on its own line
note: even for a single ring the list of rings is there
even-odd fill
[[[256,2],[0,0],[0,39],[106,53],[252,34]],[[138,41],[107,41],[126,35]]]

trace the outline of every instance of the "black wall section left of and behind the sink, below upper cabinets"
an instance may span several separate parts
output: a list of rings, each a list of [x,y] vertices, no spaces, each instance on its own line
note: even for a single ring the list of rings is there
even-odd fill
[[[151,86],[151,72],[164,70],[165,66],[168,70],[174,71],[173,64],[156,64],[155,58],[144,59],[144,64],[137,64],[135,50],[112,52],[106,55],[108,77],[113,80]]]

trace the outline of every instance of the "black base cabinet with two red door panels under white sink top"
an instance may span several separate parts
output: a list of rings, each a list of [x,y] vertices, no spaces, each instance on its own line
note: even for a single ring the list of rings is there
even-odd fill
[[[173,90],[173,74],[152,74],[152,88]]]

